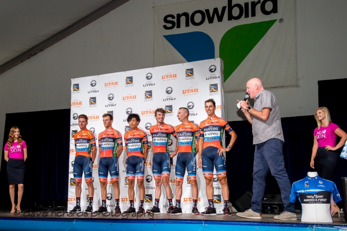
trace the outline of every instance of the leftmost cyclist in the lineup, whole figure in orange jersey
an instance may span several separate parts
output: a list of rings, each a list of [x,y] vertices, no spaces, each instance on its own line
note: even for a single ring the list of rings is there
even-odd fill
[[[96,144],[95,136],[93,132],[87,129],[88,116],[78,116],[78,126],[81,129],[75,134],[75,148],[76,156],[73,164],[73,177],[75,178],[76,187],[76,206],[70,210],[70,212],[81,211],[81,184],[82,174],[84,172],[84,178],[88,186],[89,205],[85,212],[93,212],[93,198],[94,198],[94,186],[93,186],[93,163],[96,157]]]

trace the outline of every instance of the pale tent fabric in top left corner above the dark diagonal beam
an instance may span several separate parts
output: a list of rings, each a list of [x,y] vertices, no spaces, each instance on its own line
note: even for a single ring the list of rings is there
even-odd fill
[[[1,0],[0,65],[111,0]]]

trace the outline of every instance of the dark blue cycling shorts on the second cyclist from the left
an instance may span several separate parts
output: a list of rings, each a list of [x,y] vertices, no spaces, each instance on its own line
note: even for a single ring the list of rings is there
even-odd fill
[[[118,180],[119,167],[117,157],[102,157],[99,161],[99,181],[107,182],[107,176],[111,175],[111,181]]]

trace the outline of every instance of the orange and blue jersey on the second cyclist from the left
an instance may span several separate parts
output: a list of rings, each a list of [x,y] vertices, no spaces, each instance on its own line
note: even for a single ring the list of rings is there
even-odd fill
[[[100,157],[116,157],[117,148],[123,145],[123,140],[121,138],[121,133],[111,128],[99,134],[98,143],[101,148]]]

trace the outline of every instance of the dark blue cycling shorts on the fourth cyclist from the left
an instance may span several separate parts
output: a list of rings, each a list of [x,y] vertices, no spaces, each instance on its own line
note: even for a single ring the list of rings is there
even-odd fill
[[[161,179],[162,175],[170,177],[170,155],[168,152],[156,152],[153,155],[153,177]]]

